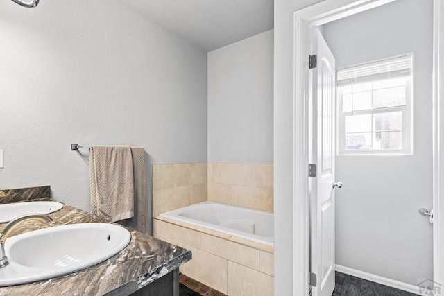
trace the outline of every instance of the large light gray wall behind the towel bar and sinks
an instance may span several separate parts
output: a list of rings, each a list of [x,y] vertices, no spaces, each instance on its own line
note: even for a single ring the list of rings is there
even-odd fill
[[[207,160],[207,54],[123,2],[0,1],[0,36],[0,188],[49,184],[89,210],[88,159],[71,143]]]

